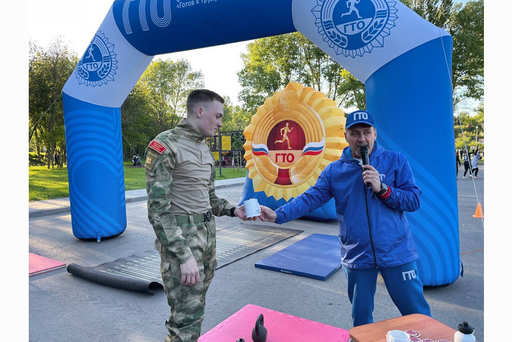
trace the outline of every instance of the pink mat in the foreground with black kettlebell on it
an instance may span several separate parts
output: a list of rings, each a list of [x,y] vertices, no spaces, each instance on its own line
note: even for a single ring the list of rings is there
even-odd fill
[[[346,342],[349,331],[278,311],[248,304],[199,337],[199,342],[252,342],[252,329],[260,314],[267,328],[267,342]]]

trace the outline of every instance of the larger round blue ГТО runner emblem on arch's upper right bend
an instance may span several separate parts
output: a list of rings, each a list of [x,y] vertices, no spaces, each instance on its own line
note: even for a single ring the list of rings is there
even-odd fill
[[[337,55],[362,56],[384,46],[384,37],[395,26],[394,1],[318,0],[311,12],[318,33]]]

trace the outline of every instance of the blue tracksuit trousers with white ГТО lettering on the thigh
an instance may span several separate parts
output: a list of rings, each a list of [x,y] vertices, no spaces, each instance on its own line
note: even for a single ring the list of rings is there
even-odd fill
[[[380,272],[391,300],[402,315],[421,313],[431,316],[429,303],[423,294],[415,261],[390,268],[343,268],[349,281],[349,300],[352,304],[353,326],[373,322],[377,274]]]

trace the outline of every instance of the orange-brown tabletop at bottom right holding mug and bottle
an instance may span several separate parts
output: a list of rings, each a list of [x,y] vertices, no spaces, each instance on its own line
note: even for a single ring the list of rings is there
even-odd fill
[[[386,342],[386,333],[389,330],[407,329],[418,331],[422,334],[422,339],[431,338],[434,341],[440,338],[453,341],[455,334],[455,330],[447,325],[417,313],[353,327],[349,334],[356,342]]]

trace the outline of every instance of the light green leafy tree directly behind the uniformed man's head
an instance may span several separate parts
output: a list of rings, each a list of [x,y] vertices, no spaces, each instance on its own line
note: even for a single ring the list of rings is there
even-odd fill
[[[151,117],[158,131],[173,129],[187,108],[187,96],[203,88],[203,73],[191,70],[188,60],[151,62],[139,81],[149,91]]]

